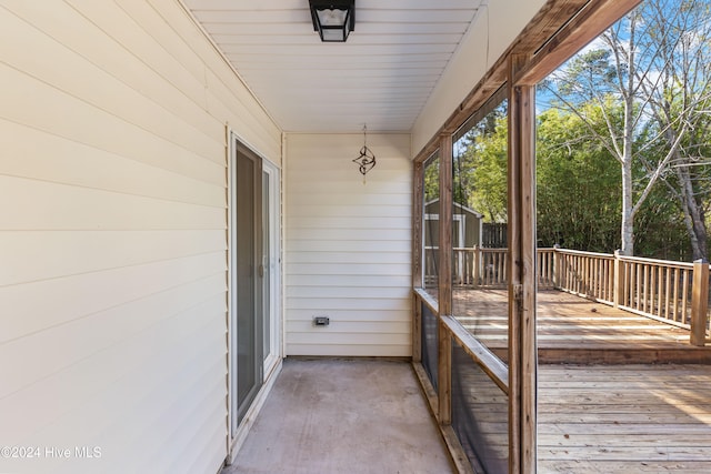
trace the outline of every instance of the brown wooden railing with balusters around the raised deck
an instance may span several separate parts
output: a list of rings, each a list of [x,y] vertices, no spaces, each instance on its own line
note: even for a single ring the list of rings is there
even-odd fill
[[[507,249],[454,249],[453,284],[505,288]],[[538,285],[610,304],[691,330],[691,344],[704,345],[709,316],[708,263],[672,262],[619,253],[539,249]]]

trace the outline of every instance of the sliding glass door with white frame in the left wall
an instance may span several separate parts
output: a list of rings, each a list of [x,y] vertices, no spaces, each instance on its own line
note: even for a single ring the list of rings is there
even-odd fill
[[[231,432],[281,359],[279,170],[231,138]]]

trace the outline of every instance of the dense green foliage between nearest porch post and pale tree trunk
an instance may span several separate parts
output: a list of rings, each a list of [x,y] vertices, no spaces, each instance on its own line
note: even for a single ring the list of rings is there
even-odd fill
[[[590,140],[588,125],[575,114],[549,109],[539,115],[537,133],[539,245],[595,252],[618,249],[621,190],[617,160]]]

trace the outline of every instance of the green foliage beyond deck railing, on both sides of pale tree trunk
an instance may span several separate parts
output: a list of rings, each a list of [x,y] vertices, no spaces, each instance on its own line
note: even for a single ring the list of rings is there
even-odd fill
[[[557,109],[538,117],[538,242],[540,246],[560,244],[565,249],[611,253],[620,248],[620,164],[591,137],[594,130],[590,130],[590,124],[593,129],[604,127],[602,112],[590,103],[581,105],[580,112],[584,122],[578,114]],[[639,140],[644,139],[641,133]],[[633,169],[635,179],[645,173],[642,165]],[[637,254],[688,260],[690,252],[681,218],[667,190],[655,188],[637,214]]]

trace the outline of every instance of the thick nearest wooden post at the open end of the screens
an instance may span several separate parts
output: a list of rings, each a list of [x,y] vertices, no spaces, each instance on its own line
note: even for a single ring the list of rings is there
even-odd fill
[[[535,87],[513,84],[509,59],[509,472],[537,472]]]

